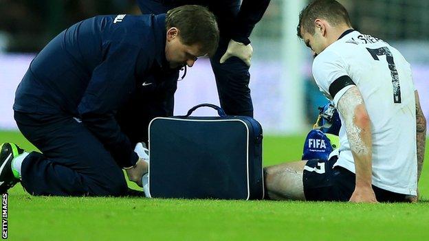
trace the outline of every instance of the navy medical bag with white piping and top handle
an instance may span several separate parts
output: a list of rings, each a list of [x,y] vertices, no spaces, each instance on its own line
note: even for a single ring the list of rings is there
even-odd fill
[[[190,117],[201,106],[219,117]],[[187,115],[149,124],[149,193],[153,198],[262,199],[262,128],[199,104]]]

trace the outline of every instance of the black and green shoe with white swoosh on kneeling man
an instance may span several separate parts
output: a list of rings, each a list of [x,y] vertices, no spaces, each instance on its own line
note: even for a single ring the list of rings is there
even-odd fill
[[[0,193],[5,193],[19,182],[12,172],[12,159],[23,154],[24,150],[13,143],[0,145]]]

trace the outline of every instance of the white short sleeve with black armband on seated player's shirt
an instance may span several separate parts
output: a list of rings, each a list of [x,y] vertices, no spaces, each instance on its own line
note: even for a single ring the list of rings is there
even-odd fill
[[[325,50],[313,62],[313,76],[320,91],[337,105],[340,97],[355,85],[347,65],[334,51]]]

